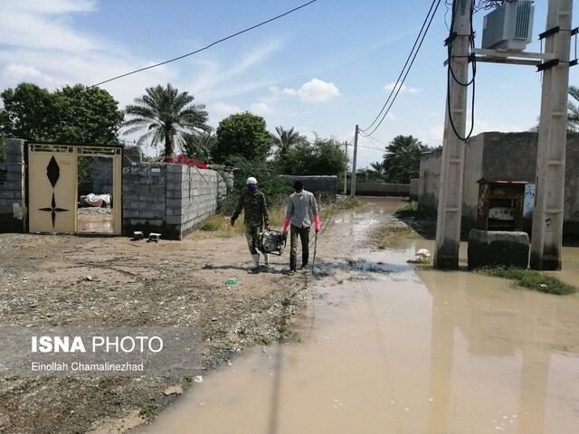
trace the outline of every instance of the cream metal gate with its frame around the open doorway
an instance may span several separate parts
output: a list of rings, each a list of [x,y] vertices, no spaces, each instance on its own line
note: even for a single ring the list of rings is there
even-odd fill
[[[78,157],[112,158],[112,233],[122,233],[122,147],[28,144],[30,232],[78,233]]]

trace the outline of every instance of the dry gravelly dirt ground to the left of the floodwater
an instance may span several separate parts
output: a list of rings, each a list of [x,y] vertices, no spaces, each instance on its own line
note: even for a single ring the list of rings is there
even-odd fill
[[[394,200],[391,211],[403,204]],[[318,258],[324,251],[346,258],[352,245],[343,242],[345,234],[332,233],[331,218],[325,223]],[[197,233],[156,243],[3,235],[0,326],[195,326],[204,335],[208,371],[247,346],[299,339],[312,276],[286,276],[288,254],[252,274],[242,237]],[[225,284],[229,278],[242,284]],[[168,387],[192,384],[190,378],[3,378],[0,432],[122,432],[174,401],[176,394],[164,393]]]

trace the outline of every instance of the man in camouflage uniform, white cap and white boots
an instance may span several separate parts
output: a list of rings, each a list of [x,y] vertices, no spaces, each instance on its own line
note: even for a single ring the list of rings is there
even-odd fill
[[[265,265],[270,263],[270,254],[263,250],[260,242],[261,227],[265,226],[265,230],[270,231],[270,215],[265,195],[257,190],[257,180],[250,176],[245,184],[247,190],[239,196],[239,202],[232,216],[232,226],[235,226],[235,220],[244,209],[245,238],[252,253],[252,269],[257,270],[260,267],[260,254],[257,250],[263,253]]]

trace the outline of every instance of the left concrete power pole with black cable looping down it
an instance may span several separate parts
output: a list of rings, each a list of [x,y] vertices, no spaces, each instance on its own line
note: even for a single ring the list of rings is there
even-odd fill
[[[462,188],[464,172],[464,136],[466,131],[467,88],[469,80],[471,0],[454,0],[452,5],[451,59],[448,68],[444,137],[442,140],[441,178],[439,182],[438,218],[434,267],[459,268],[460,219],[462,217]],[[452,78],[454,76],[454,78]]]

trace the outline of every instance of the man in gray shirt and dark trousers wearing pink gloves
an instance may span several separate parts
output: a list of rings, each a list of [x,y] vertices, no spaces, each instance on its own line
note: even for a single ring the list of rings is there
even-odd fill
[[[289,230],[290,250],[289,250],[289,272],[296,270],[296,256],[298,252],[298,237],[301,241],[301,268],[308,265],[309,258],[309,227],[311,218],[314,221],[314,230],[319,231],[318,203],[312,193],[304,190],[304,184],[296,181],[293,184],[295,193],[289,195],[288,206],[286,208],[286,218],[283,221],[283,233]]]

